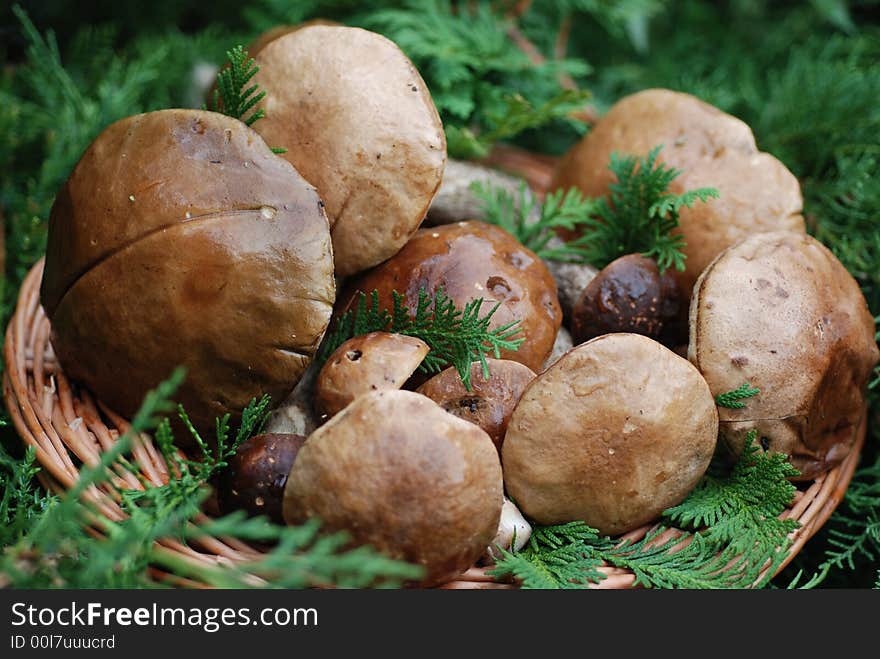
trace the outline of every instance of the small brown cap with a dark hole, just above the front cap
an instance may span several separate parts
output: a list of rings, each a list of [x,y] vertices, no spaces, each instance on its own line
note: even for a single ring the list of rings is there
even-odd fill
[[[333,416],[361,394],[400,389],[429,350],[421,339],[389,332],[349,339],[318,373],[315,404],[319,412]]]

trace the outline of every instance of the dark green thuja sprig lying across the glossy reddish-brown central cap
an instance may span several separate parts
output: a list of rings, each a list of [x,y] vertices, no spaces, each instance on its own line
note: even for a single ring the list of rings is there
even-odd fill
[[[324,363],[339,346],[348,339],[369,332],[394,332],[421,339],[428,344],[430,351],[419,369],[425,373],[439,373],[448,366],[454,366],[465,388],[470,390],[471,364],[479,362],[483,377],[489,377],[489,364],[486,355],[496,359],[502,350],[518,350],[524,338],[515,338],[522,328],[515,320],[495,329],[489,329],[492,316],[500,302],[481,315],[483,298],[468,302],[464,309],[446,295],[443,288],[434,294],[424,288],[419,289],[419,299],[415,311],[404,303],[403,295],[392,291],[393,301],[390,310],[379,306],[379,292],[374,290],[367,295],[358,293],[354,310],[346,311],[335,327],[325,337],[318,351],[318,363]]]

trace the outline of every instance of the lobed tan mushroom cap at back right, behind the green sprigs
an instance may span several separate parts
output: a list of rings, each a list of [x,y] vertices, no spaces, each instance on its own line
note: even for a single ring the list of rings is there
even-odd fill
[[[686,292],[725,247],[776,230],[804,231],[800,184],[779,160],[758,151],[740,119],[689,94],[648,89],[618,101],[560,162],[551,189],[577,187],[608,194],[613,152],[645,156],[662,145],[659,160],[683,170],[670,185],[680,193],[714,187],[720,197],[681,209],[687,243]]]

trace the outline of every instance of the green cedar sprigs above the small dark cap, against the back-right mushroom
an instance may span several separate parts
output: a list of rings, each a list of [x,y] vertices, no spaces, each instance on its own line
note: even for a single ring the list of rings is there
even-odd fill
[[[533,202],[524,190],[519,200],[492,186],[477,184],[474,191],[483,202],[487,222],[500,225],[542,258],[604,268],[620,256],[641,252],[657,261],[660,272],[669,267],[684,270],[684,238],[673,233],[679,212],[718,197],[718,191],[670,192],[669,185],[681,171],[657,161],[660,148],[643,157],[611,154],[608,168],[616,181],[608,197],[590,199],[574,189],[557,190],[547,195],[536,222],[529,221]],[[555,246],[550,240],[559,228],[580,235]]]

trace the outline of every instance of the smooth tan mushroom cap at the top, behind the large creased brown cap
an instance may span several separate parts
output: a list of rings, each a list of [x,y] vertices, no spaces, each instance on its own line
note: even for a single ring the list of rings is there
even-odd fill
[[[440,116],[397,45],[360,28],[311,25],[263,45],[254,128],[317,187],[336,273],[395,254],[418,229],[446,162]]]

